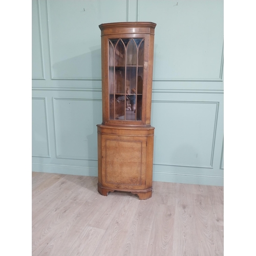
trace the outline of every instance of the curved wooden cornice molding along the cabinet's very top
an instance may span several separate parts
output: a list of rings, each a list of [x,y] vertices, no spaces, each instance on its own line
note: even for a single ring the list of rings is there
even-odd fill
[[[118,22],[100,24],[101,36],[113,34],[155,34],[153,22]]]

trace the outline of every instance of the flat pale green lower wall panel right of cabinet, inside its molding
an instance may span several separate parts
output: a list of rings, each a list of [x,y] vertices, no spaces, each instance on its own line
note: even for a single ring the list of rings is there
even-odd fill
[[[155,152],[154,163],[211,168],[218,106],[218,102],[154,101],[155,146],[163,149]],[[167,118],[158,115],[163,110],[168,110]]]

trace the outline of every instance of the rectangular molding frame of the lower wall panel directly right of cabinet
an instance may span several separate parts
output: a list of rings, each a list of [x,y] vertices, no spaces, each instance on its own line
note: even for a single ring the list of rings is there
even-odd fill
[[[211,156],[209,165],[190,165],[190,164],[177,164],[177,163],[160,163],[154,162],[156,165],[169,165],[169,166],[184,166],[184,167],[197,167],[197,168],[213,168],[214,152],[215,152],[215,139],[217,133],[217,123],[218,123],[218,112],[219,112],[219,102],[217,101],[174,101],[174,100],[152,100],[152,103],[190,103],[190,104],[215,104],[215,122],[214,122],[214,132],[212,134],[212,144],[211,144]]]

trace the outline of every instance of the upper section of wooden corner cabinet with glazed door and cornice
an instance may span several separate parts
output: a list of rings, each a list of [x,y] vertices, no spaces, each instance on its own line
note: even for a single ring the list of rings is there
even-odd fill
[[[154,23],[102,24],[103,123],[150,125]]]

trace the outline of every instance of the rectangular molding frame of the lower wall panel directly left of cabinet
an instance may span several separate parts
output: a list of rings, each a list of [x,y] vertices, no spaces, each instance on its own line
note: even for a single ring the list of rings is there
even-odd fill
[[[61,158],[61,159],[73,159],[73,160],[87,160],[87,161],[98,161],[98,158],[87,158],[87,157],[74,157],[74,156],[65,156],[59,154],[58,151],[58,139],[57,139],[57,132],[58,132],[58,125],[56,123],[56,101],[57,100],[79,100],[79,101],[102,101],[101,99],[97,98],[56,98],[53,97],[53,116],[54,116],[54,132],[55,132],[55,148],[56,148],[56,158]],[[96,129],[96,128],[95,128]]]

